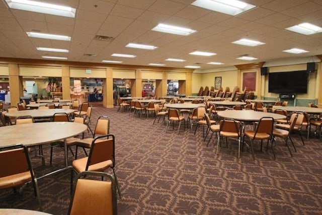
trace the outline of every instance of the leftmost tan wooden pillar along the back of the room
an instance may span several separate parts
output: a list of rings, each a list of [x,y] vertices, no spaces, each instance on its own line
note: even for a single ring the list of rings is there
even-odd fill
[[[23,93],[23,81],[19,76],[18,64],[8,64],[11,106],[17,106]]]

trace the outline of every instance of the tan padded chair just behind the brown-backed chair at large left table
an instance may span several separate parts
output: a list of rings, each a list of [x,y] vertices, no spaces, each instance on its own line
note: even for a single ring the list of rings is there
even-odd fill
[[[84,153],[86,154],[86,156],[88,156],[88,153],[86,152],[85,149],[91,149],[93,139],[97,136],[107,135],[110,133],[110,121],[111,121],[110,117],[100,116],[97,119],[93,137],[80,139],[75,142],[75,145],[76,145],[75,159],[77,159],[78,147],[83,148]]]

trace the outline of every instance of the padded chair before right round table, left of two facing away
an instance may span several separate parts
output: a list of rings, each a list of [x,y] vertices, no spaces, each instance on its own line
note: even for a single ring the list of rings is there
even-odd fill
[[[240,132],[241,132],[240,122],[234,119],[223,119],[219,122],[219,134],[217,140],[217,151],[216,154],[218,155],[219,147],[221,145],[221,141],[223,138],[226,138],[226,145],[227,145],[227,138],[235,138],[238,139],[238,158],[240,158]]]

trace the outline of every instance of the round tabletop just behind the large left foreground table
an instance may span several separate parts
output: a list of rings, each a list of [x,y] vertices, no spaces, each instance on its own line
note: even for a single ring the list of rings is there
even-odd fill
[[[43,118],[52,117],[55,113],[73,113],[73,109],[31,109],[31,110],[20,110],[11,113],[6,113],[9,117],[19,117],[19,116],[32,116],[33,118]]]

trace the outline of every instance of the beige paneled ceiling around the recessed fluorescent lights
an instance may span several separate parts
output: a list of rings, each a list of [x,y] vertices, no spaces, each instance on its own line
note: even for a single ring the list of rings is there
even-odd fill
[[[39,0],[40,1],[40,0]],[[67,57],[68,61],[123,61],[121,64],[200,69],[219,68],[252,62],[310,57],[322,54],[322,33],[302,35],[285,28],[303,22],[322,26],[321,0],[244,0],[257,6],[238,16],[191,6],[194,0],[46,0],[76,9],[75,18],[9,9],[0,1],[0,57],[42,59],[42,56]],[[197,30],[189,36],[151,31],[159,23]],[[71,36],[71,41],[30,38],[26,32]],[[109,41],[95,40],[96,35]],[[266,44],[249,47],[231,42],[247,38]],[[128,43],[157,46],[154,50],[125,47]],[[68,49],[69,53],[37,51],[36,47]],[[300,48],[309,52],[291,54],[283,50]],[[196,56],[193,51],[214,52]],[[134,54],[135,58],[112,57],[113,53]],[[88,56],[94,55],[94,56]],[[251,55],[258,60],[236,59]],[[185,62],[166,61],[167,58]],[[222,62],[210,65],[207,62]]]

